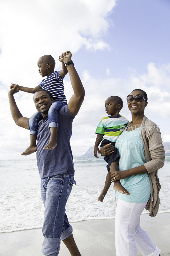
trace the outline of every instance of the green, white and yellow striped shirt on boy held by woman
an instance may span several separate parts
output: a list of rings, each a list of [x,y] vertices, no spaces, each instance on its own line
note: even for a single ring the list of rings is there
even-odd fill
[[[121,135],[123,130],[126,128],[128,119],[124,116],[106,116],[99,122],[96,134],[104,134],[102,140],[110,140],[116,142],[117,138]]]

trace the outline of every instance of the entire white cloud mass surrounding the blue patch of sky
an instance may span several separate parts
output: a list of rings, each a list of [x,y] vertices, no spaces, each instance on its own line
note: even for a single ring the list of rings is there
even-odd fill
[[[41,77],[36,63],[41,55],[51,54],[57,60],[59,54],[67,49],[72,53],[82,46],[90,51],[110,49],[104,35],[111,24],[108,15],[115,4],[113,0],[50,0],[50,8],[47,8],[45,0],[0,1],[0,23],[3,24],[0,27],[0,81],[3,84],[0,89],[4,109],[1,113],[1,158],[18,158],[29,145],[29,132],[16,126],[11,118],[7,99],[10,83],[18,82],[28,87],[37,85]],[[109,75],[107,67],[105,70]],[[106,115],[104,101],[111,94],[122,97],[124,107],[121,114],[130,120],[126,96],[137,87],[148,94],[146,116],[160,126],[163,124],[164,141],[170,141],[166,136],[166,120],[170,117],[170,64],[157,67],[149,63],[144,74],[137,74],[135,69],[131,69],[127,79],[109,76],[103,80],[100,74],[98,78],[92,77],[88,70],[82,77],[86,94],[73,123],[71,145],[74,155],[84,154],[88,147],[94,145],[96,126]],[[68,75],[64,86],[69,100],[73,91],[67,80]],[[35,112],[32,97],[24,92],[15,95],[23,116],[29,117]],[[32,158],[33,155],[27,157]]]

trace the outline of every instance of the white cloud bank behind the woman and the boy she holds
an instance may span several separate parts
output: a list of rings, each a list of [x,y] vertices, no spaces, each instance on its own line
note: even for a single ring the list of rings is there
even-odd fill
[[[156,80],[155,77],[157,77]],[[146,73],[140,75],[133,69],[133,73],[130,72],[127,79],[114,77],[106,78],[105,80],[100,77],[95,79],[86,70],[82,82],[85,86],[86,97],[74,121],[73,135],[71,138],[75,155],[78,155],[78,153],[79,155],[83,154],[89,147],[94,146],[94,139],[89,140],[89,138],[96,138],[96,126],[100,119],[106,116],[104,102],[107,97],[111,95],[120,96],[124,103],[121,115],[131,120],[131,113],[127,108],[126,96],[137,88],[144,90],[148,95],[148,105],[145,109],[145,115],[159,125],[163,141],[170,141],[168,135],[170,133],[169,64],[157,68],[154,63],[149,63]],[[81,146],[78,148],[80,144]]]

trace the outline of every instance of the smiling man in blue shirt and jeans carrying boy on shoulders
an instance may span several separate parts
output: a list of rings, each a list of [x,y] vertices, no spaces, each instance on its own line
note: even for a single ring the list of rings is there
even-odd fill
[[[69,103],[59,111],[58,142],[57,147],[53,150],[43,150],[50,137],[48,109],[53,99],[44,90],[38,90],[33,96],[35,106],[42,115],[42,120],[38,123],[37,134],[37,165],[41,178],[41,197],[45,206],[42,228],[44,240],[41,252],[46,256],[58,255],[60,240],[63,240],[72,256],[81,256],[65,213],[65,205],[71,188],[75,184],[74,164],[70,148],[72,122],[84,100],[85,91],[71,61],[71,53],[67,51],[61,58],[68,65],[67,70],[74,94]],[[17,92],[17,85],[9,91],[11,115],[18,126],[29,129],[29,119],[21,115],[13,97],[13,94]]]

